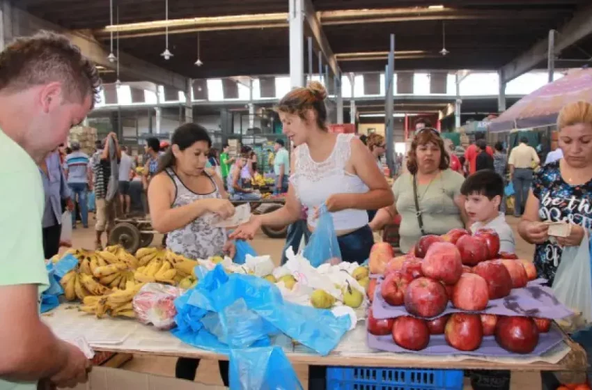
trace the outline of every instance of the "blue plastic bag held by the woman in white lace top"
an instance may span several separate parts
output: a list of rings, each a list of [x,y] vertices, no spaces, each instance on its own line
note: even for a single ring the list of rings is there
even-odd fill
[[[313,267],[325,264],[332,258],[338,258],[341,261],[341,251],[333,225],[333,217],[327,211],[325,204],[319,208],[316,229],[311,235],[309,243],[304,247],[303,255]]]

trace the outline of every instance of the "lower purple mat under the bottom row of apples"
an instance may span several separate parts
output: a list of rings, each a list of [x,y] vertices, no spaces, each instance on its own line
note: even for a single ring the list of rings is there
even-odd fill
[[[436,336],[430,336],[430,343],[428,347],[421,351],[412,351],[401,348],[395,344],[393,337],[389,334],[388,336],[375,336],[368,333],[368,347],[375,350],[382,350],[387,352],[413,352],[416,354],[431,354],[431,355],[451,355],[451,354],[466,354],[470,356],[491,356],[491,357],[538,357],[545,352],[551,350],[554,346],[563,342],[563,335],[554,326],[551,327],[549,333],[540,334],[538,338],[538,345],[529,354],[515,354],[501,348],[494,336],[483,337],[481,346],[474,351],[465,352],[459,351],[456,348],[452,348],[446,343],[444,334],[438,334]]]

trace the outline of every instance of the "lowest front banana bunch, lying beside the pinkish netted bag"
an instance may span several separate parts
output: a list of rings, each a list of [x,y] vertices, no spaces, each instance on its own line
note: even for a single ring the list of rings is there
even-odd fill
[[[104,318],[105,315],[135,318],[132,299],[142,286],[143,283],[127,281],[123,289],[114,288],[106,295],[84,297],[79,309],[84,313],[94,314],[97,318]]]

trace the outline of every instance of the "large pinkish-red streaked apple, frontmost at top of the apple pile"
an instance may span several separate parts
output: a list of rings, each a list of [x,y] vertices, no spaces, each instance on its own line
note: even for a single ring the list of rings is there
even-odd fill
[[[458,249],[450,242],[434,242],[421,263],[423,276],[454,284],[462,274],[462,262]]]

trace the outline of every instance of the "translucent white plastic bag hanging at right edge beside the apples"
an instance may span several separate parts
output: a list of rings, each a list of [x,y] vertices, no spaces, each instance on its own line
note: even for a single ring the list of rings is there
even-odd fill
[[[559,301],[592,323],[592,275],[588,232],[579,247],[565,247],[552,289]]]

